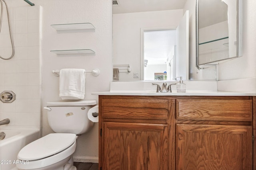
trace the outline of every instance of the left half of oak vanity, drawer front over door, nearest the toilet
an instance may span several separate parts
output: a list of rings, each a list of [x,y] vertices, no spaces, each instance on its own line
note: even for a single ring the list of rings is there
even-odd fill
[[[173,170],[175,100],[99,96],[102,170]]]

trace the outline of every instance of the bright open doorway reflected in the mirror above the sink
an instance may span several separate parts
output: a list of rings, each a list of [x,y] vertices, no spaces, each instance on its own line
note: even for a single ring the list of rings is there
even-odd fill
[[[143,31],[144,80],[172,80],[176,30]]]

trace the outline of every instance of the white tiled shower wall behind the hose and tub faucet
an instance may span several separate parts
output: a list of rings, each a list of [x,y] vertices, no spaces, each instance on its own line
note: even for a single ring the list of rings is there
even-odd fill
[[[9,8],[15,55],[10,60],[0,59],[0,92],[16,94],[14,102],[0,102],[0,119],[9,118],[8,126],[41,126],[41,12],[40,6]],[[0,55],[8,58],[11,53],[4,9]]]

